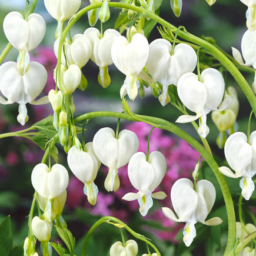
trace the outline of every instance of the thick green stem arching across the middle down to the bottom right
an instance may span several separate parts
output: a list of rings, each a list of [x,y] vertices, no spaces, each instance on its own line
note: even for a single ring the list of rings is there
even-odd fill
[[[224,197],[225,206],[227,209],[228,215],[228,241],[227,247],[225,250],[224,255],[228,255],[229,252],[232,250],[235,244],[235,211],[234,211],[234,204],[232,201],[232,197],[230,194],[230,189],[228,188],[227,181],[225,180],[224,176],[218,170],[218,164],[210,154],[196,139],[194,139],[191,135],[187,134],[187,132],[183,131],[181,128],[177,127],[176,125],[172,124],[161,118],[155,117],[148,117],[143,115],[128,115],[118,112],[89,112],[87,114],[81,115],[74,119],[74,122],[81,122],[84,119],[92,119],[95,117],[115,117],[115,118],[122,118],[127,119],[130,121],[143,121],[147,124],[150,124],[154,127],[159,129],[165,129],[167,131],[172,132],[175,135],[178,135],[182,139],[188,142],[193,148],[195,148],[199,154],[205,159],[208,163],[212,171],[214,172],[215,177],[218,180],[218,183],[221,187],[222,195]]]

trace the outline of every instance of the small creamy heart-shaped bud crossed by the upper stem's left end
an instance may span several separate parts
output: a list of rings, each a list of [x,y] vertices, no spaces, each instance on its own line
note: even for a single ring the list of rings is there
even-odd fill
[[[56,75],[54,75],[54,77],[56,77]],[[66,95],[72,94],[75,89],[77,89],[81,82],[81,78],[81,69],[77,65],[71,64],[68,68],[66,68],[61,64],[61,85]],[[57,86],[59,88],[58,80]]]

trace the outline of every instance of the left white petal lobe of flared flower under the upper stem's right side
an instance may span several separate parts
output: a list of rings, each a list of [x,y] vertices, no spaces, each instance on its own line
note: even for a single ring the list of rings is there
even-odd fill
[[[182,75],[178,81],[177,89],[179,98],[185,107],[197,115],[204,113],[207,89],[202,82],[198,81],[197,75],[194,73]]]

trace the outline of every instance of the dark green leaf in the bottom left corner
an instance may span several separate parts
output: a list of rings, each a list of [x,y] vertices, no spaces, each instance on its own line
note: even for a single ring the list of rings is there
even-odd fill
[[[12,250],[12,230],[10,216],[0,224],[0,255],[8,256]]]

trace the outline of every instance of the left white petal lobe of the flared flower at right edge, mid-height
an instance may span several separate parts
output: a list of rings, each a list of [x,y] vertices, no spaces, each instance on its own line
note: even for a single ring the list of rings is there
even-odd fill
[[[242,132],[230,135],[225,143],[224,153],[237,177],[244,175],[245,168],[252,161],[252,148],[247,143],[247,136]]]

